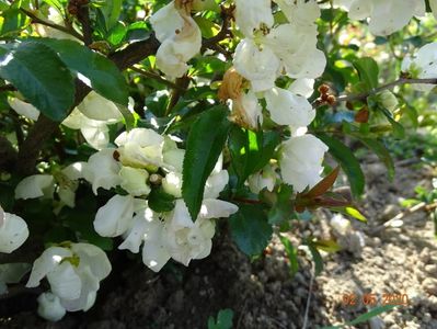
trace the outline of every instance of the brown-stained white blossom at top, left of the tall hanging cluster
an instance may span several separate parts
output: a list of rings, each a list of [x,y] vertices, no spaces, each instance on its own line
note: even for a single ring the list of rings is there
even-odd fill
[[[157,67],[171,78],[181,78],[188,69],[186,61],[200,52],[200,29],[191,15],[176,9],[175,1],[157,11],[150,22],[161,42]]]

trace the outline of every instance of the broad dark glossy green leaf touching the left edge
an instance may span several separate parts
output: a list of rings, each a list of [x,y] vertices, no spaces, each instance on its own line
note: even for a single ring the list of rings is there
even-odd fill
[[[42,113],[62,121],[74,100],[72,76],[57,54],[33,42],[0,45],[0,77]]]

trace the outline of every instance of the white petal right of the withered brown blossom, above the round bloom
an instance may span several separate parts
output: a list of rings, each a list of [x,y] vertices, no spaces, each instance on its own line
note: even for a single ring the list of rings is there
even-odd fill
[[[264,97],[272,120],[279,125],[306,127],[315,117],[315,110],[306,98],[292,94],[286,89],[272,88],[264,92]]]

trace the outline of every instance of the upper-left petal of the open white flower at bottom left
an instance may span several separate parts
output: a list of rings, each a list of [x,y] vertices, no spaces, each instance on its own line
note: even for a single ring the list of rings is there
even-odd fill
[[[32,268],[31,277],[26,287],[35,287],[39,285],[39,281],[53,271],[64,258],[71,257],[71,250],[61,247],[47,248],[41,257],[38,257]]]

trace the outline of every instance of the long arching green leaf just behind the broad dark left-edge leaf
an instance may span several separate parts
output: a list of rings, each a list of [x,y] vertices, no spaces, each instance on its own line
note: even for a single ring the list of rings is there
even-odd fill
[[[118,103],[128,104],[126,80],[113,61],[70,39],[35,38],[56,53],[70,70],[88,78],[91,87],[102,97]]]

